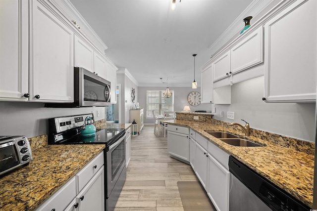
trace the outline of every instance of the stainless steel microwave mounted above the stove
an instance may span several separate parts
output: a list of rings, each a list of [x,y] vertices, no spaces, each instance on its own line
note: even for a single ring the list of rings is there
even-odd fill
[[[111,83],[84,68],[74,68],[74,102],[46,103],[45,107],[73,108],[110,105]]]

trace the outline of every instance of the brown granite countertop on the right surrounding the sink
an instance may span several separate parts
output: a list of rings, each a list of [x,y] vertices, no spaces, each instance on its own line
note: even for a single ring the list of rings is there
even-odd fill
[[[166,121],[170,125],[187,126],[205,136],[220,149],[240,160],[246,166],[255,170],[269,181],[276,184],[287,193],[310,208],[313,207],[313,182],[314,182],[314,156],[289,149],[267,140],[252,136],[246,138],[263,147],[238,147],[222,142],[218,138],[205,132],[205,130],[228,131],[240,137],[241,133],[229,127],[214,124],[196,123],[184,120]]]

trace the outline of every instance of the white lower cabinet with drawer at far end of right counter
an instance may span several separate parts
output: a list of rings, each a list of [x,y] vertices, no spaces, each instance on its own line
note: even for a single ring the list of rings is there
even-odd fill
[[[167,125],[167,151],[189,164],[189,128]]]

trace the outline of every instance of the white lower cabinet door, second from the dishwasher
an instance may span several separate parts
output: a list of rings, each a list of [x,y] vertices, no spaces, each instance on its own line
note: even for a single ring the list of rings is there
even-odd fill
[[[205,190],[207,190],[208,152],[198,143],[196,145],[195,173]]]

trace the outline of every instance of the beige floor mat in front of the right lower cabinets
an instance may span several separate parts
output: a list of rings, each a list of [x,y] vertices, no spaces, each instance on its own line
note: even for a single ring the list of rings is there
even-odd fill
[[[177,186],[184,211],[215,211],[198,181],[178,181]]]

